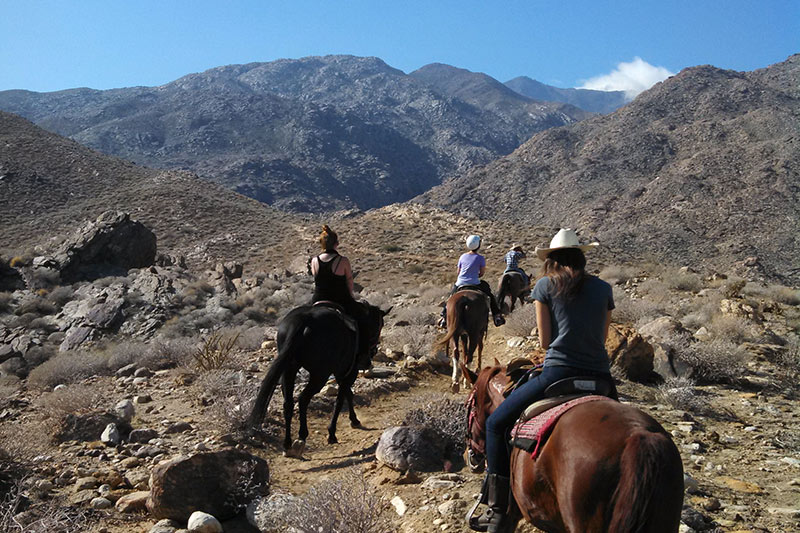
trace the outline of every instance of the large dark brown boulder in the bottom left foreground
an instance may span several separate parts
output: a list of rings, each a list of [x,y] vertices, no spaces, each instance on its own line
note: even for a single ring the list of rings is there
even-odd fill
[[[269,493],[267,462],[234,448],[179,456],[150,474],[147,509],[156,518],[186,522],[195,511],[227,520]]]

